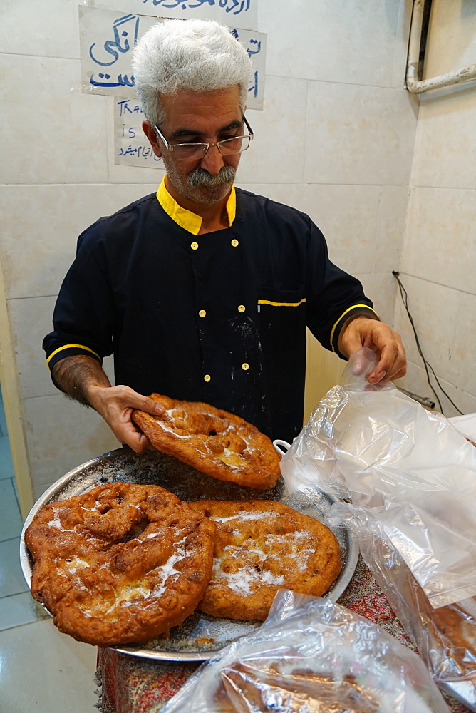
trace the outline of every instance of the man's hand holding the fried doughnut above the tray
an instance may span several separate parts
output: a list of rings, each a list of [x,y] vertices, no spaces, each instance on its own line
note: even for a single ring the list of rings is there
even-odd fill
[[[165,411],[161,404],[138,394],[130,386],[89,386],[87,393],[90,405],[103,416],[119,443],[127,443],[136,453],[152,447],[131,416],[134,409],[158,416]]]

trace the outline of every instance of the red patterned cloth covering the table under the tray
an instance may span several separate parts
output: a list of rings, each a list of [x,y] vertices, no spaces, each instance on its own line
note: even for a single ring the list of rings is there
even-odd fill
[[[338,603],[378,624],[401,644],[416,651],[361,557]],[[98,649],[97,674],[102,683],[100,710],[102,713],[157,713],[197,667],[195,662],[154,662],[112,649]],[[447,694],[443,693],[443,698],[452,713],[470,713],[470,709]]]

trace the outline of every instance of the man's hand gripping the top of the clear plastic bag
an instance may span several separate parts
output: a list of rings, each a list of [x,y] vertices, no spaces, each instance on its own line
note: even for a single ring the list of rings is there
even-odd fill
[[[368,317],[356,317],[344,324],[338,338],[339,351],[344,356],[351,356],[362,347],[372,349],[379,359],[374,371],[367,376],[369,384],[383,380],[394,381],[405,376],[405,349],[400,334],[390,329],[388,324]]]

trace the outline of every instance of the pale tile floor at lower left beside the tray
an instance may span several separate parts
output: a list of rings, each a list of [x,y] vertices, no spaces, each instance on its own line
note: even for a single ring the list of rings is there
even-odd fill
[[[19,564],[22,521],[0,396],[0,711],[97,713],[95,647],[61,634]]]

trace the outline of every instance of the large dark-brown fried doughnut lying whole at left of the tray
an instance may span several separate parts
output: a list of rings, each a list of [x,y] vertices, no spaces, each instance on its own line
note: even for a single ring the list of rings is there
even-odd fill
[[[160,486],[98,486],[49,503],[26,529],[31,593],[78,641],[150,639],[195,610],[214,536],[210,520]]]

